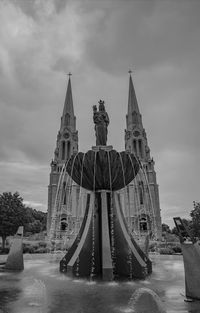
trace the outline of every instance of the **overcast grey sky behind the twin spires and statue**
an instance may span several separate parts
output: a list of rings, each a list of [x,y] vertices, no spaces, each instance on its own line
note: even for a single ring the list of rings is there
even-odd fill
[[[47,210],[50,161],[72,72],[79,147],[92,105],[124,149],[128,70],[156,164],[163,222],[200,200],[200,1],[0,0],[0,193]]]

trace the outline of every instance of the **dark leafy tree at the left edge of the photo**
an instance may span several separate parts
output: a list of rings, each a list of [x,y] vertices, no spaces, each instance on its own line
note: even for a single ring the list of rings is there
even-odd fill
[[[2,248],[5,248],[6,238],[14,235],[19,226],[29,222],[23,199],[18,192],[4,192],[0,195],[0,236]]]

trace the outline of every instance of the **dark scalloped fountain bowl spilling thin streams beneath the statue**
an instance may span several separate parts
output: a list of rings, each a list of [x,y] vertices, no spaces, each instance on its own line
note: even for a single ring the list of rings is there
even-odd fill
[[[116,191],[135,178],[139,167],[132,153],[89,150],[87,153],[72,155],[66,170],[72,179],[85,189]]]

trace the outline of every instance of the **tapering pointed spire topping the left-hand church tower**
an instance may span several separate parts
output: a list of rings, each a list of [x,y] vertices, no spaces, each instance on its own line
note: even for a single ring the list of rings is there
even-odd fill
[[[73,106],[73,98],[72,98],[72,87],[71,87],[71,73],[68,74],[68,85],[67,92],[65,96],[65,103],[63,108],[63,115],[61,118],[61,129],[67,127],[71,131],[76,130],[76,117],[74,115],[74,106]]]

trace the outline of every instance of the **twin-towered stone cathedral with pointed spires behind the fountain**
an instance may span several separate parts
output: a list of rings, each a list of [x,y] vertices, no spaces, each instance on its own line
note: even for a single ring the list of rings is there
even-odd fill
[[[81,203],[87,201],[87,190],[80,188],[61,173],[70,156],[78,152],[78,131],[74,114],[71,78],[69,74],[67,92],[58,131],[54,158],[51,162],[48,186],[47,232],[50,233],[53,222],[59,214],[59,232],[74,234],[80,228],[84,212]],[[128,108],[125,129],[125,150],[133,153],[140,164],[140,171],[128,187],[118,191],[122,210],[133,235],[150,234],[154,239],[161,239],[161,215],[159,189],[154,169],[155,162],[150,155],[147,135],[142,123],[132,76],[129,77]],[[66,174],[67,175],[67,174]],[[60,189],[62,210],[56,212],[56,200]],[[57,200],[58,201],[58,200]],[[79,225],[77,226],[77,221]],[[53,228],[55,225],[53,226]],[[76,230],[75,230],[76,229]]]

